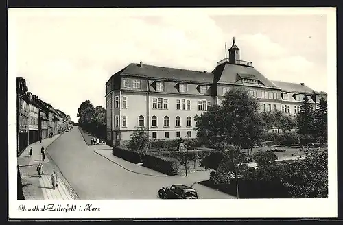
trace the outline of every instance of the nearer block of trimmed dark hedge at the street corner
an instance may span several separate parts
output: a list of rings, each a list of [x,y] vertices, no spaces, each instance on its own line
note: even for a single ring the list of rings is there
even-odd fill
[[[177,175],[180,162],[175,158],[160,156],[156,153],[147,153],[143,157],[143,164],[145,167],[154,169],[163,174]]]

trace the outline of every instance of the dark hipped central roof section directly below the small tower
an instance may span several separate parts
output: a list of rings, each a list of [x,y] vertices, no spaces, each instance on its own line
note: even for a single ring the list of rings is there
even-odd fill
[[[223,64],[217,65],[212,71],[215,75],[217,82],[225,84],[239,84],[241,78],[255,78],[259,80],[265,87],[277,88],[275,84],[270,82],[264,75],[259,73],[254,67],[247,67],[238,64],[230,64],[224,62]],[[237,83],[238,82],[238,83]],[[240,82],[241,83],[241,82]],[[253,84],[246,84],[246,86],[254,86]],[[263,86],[261,85],[261,86]]]

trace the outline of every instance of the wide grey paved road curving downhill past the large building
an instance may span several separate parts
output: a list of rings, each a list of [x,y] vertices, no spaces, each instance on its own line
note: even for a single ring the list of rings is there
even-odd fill
[[[99,148],[107,150],[97,151]],[[80,199],[156,199],[162,186],[176,183],[191,186],[193,182],[209,178],[209,171],[188,177],[165,176],[123,161],[112,156],[108,146],[86,145],[76,126],[54,141],[47,152]],[[235,198],[202,185],[193,187],[200,198]]]

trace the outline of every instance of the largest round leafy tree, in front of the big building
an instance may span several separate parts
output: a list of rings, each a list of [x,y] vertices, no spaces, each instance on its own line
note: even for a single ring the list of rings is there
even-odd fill
[[[196,117],[198,137],[212,137],[209,145],[233,144],[250,148],[263,133],[259,103],[243,88],[232,88],[224,95],[220,106]]]

